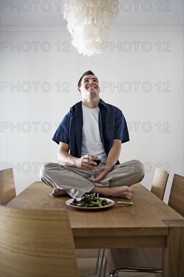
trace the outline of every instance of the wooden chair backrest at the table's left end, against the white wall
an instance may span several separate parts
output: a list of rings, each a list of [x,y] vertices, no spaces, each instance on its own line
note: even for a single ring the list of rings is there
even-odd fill
[[[7,204],[16,197],[13,168],[0,171],[0,203]]]

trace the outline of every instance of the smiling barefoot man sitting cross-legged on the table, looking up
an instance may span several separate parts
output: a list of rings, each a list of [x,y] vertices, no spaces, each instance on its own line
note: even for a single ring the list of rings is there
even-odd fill
[[[100,98],[99,81],[91,71],[81,76],[78,92],[81,101],[70,108],[53,136],[61,164],[46,163],[41,180],[54,188],[52,196],[74,198],[91,192],[132,199],[131,185],[144,178],[144,170],[138,160],[123,164],[118,160],[121,144],[129,141],[122,111]],[[96,156],[102,157],[102,163],[91,180]]]

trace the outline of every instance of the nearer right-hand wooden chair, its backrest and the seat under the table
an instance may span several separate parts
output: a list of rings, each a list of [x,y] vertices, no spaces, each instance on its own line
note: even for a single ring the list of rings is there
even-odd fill
[[[183,216],[184,177],[174,174],[168,205]],[[121,271],[162,272],[162,249],[106,249],[104,276],[108,264],[110,276]]]

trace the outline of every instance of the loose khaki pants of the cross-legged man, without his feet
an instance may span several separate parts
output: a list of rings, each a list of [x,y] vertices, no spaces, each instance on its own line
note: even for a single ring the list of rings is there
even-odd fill
[[[65,164],[45,163],[40,170],[40,179],[46,185],[63,189],[75,198],[90,192],[95,186],[131,186],[144,178],[144,169],[140,161],[131,160],[115,165],[100,183],[89,181],[91,174],[92,170]]]

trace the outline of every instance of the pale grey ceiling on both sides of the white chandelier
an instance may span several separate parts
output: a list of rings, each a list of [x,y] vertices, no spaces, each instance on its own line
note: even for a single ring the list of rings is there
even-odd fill
[[[18,2],[2,1],[2,3],[5,3],[1,3],[2,5],[9,6],[1,8],[1,26],[66,26],[66,21],[63,19],[61,12],[63,9],[62,1],[20,1],[20,11],[15,7]],[[39,2],[37,3],[37,10],[35,2]],[[21,7],[22,3],[24,5]],[[118,4],[120,11],[118,18],[115,20],[115,26],[183,25],[183,0],[121,0],[118,1]],[[46,11],[49,8],[50,10]]]

